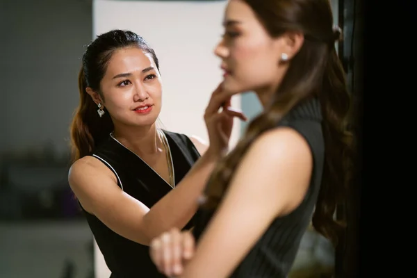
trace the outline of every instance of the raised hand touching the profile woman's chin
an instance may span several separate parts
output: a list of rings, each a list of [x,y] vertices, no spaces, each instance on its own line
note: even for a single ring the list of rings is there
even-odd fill
[[[227,153],[234,117],[243,121],[247,120],[241,111],[231,108],[231,97],[234,94],[223,90],[222,83],[220,83],[208,102],[204,121],[210,140],[210,146],[207,149],[209,154],[222,156]]]

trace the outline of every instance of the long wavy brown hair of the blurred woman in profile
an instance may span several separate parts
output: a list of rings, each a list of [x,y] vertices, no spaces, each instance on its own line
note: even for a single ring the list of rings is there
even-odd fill
[[[322,106],[325,165],[313,214],[313,227],[337,245],[345,223],[335,220],[336,206],[349,190],[352,134],[347,130],[350,94],[334,43],[341,37],[333,27],[328,0],[243,0],[272,38],[288,31],[304,34],[304,43],[293,57],[284,79],[268,107],[252,122],[231,153],[215,168],[206,188],[205,208],[216,208],[252,142],[272,129],[288,111],[310,97]]]

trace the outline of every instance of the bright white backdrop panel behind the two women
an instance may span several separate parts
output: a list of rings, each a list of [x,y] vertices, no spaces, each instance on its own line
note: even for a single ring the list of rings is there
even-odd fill
[[[156,51],[163,79],[161,121],[170,131],[208,140],[203,114],[211,92],[222,80],[213,49],[222,33],[226,1],[93,1],[93,34],[114,28],[142,35]],[[232,100],[240,109],[240,97]],[[236,120],[231,147],[240,135]],[[97,278],[109,277],[95,248]]]

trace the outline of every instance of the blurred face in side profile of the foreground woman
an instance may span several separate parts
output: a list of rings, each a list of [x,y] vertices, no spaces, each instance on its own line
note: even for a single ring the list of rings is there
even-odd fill
[[[231,92],[274,90],[284,75],[283,44],[272,38],[244,1],[229,1],[224,36],[215,48],[222,59],[223,86]]]

